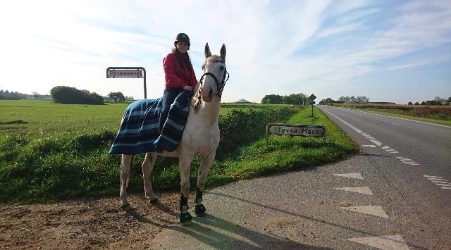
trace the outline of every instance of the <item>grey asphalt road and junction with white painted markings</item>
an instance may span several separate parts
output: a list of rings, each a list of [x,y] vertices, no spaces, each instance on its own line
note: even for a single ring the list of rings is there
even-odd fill
[[[321,109],[360,154],[207,190],[206,218],[174,223],[149,247],[450,249],[451,127]]]

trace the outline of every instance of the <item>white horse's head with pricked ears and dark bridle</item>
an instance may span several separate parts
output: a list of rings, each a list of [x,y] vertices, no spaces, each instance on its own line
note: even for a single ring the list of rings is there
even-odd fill
[[[221,47],[221,56],[211,56],[209,43],[205,44],[205,61],[202,65],[204,75],[200,77],[200,92],[202,100],[209,102],[212,101],[217,94],[221,99],[221,94],[226,85],[226,45]]]

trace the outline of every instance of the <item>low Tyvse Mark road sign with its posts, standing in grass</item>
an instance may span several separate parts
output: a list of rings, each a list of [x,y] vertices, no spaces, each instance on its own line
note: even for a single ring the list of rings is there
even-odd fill
[[[266,125],[266,144],[268,144],[268,135],[323,137],[326,142],[326,127],[323,125],[268,123]]]

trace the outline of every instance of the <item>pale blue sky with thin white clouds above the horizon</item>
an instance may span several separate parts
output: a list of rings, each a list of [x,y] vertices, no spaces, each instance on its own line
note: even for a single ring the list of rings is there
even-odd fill
[[[198,80],[206,42],[212,54],[226,44],[223,102],[451,96],[451,0],[18,0],[1,4],[0,32],[0,89],[27,94],[62,85],[142,99],[142,79],[106,78],[110,66],[133,66],[146,69],[147,98],[159,98],[163,58],[185,32]]]

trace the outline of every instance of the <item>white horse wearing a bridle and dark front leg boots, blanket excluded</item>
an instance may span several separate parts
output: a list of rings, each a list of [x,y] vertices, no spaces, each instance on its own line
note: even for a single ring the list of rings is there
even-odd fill
[[[194,157],[200,156],[201,163],[197,178],[197,194],[194,213],[198,216],[205,215],[205,207],[202,204],[202,193],[206,175],[214,161],[216,149],[219,144],[218,115],[221,106],[221,94],[226,84],[226,46],[221,47],[220,56],[211,55],[209,44],[205,44],[205,61],[202,65],[204,75],[194,88],[194,96],[190,104],[190,113],[183,131],[183,136],[178,148],[173,152],[146,153],[142,163],[142,177],[144,179],[144,192],[146,199],[154,202],[158,198],[152,190],[150,175],[157,156],[178,157],[180,167],[180,223],[191,225],[192,216],[188,212],[187,196],[190,191],[190,165]],[[202,100],[201,100],[202,99]],[[130,177],[130,165],[132,155],[122,155],[121,162],[121,207],[130,209],[126,188]]]

